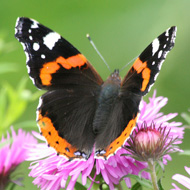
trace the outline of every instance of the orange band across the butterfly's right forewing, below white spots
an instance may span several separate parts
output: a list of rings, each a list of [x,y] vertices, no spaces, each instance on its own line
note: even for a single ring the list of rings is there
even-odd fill
[[[151,70],[147,67],[147,62],[143,63],[139,58],[137,58],[136,61],[134,62],[133,68],[138,74],[142,72],[143,82],[142,82],[141,91],[143,92],[145,91],[150,81]]]

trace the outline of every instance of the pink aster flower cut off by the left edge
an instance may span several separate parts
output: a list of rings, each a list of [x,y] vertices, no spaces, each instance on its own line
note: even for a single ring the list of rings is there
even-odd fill
[[[20,184],[19,179],[11,179],[11,174],[27,158],[28,150],[24,148],[26,143],[37,143],[31,134],[22,129],[16,134],[11,127],[11,133],[11,136],[7,133],[7,138],[2,137],[0,141],[0,189],[6,189],[9,182]]]

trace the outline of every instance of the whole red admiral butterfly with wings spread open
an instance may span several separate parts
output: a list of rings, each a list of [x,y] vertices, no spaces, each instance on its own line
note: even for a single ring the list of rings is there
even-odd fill
[[[18,18],[15,37],[26,53],[34,85],[47,90],[37,122],[49,146],[70,160],[107,159],[135,128],[139,104],[154,84],[177,28],[166,30],[136,59],[123,80],[115,70],[104,82],[88,60],[58,33]]]

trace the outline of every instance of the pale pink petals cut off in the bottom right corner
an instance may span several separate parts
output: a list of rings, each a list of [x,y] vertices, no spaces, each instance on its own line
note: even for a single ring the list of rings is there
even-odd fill
[[[186,172],[190,175],[190,168],[185,166]],[[175,174],[172,179],[176,180],[178,183],[182,184],[187,189],[190,189],[190,178],[183,176],[181,174]],[[181,190],[175,183],[172,183],[175,189],[172,190]]]

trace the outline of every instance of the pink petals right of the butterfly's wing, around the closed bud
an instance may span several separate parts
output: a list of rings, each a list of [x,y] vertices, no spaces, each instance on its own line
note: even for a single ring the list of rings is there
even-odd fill
[[[184,134],[184,127],[179,126],[181,126],[182,123],[175,121],[172,121],[170,123],[168,122],[178,114],[169,113],[167,115],[164,115],[164,113],[160,112],[160,109],[167,104],[168,99],[162,96],[156,98],[156,91],[154,91],[153,97],[149,98],[149,101],[149,104],[147,104],[145,101],[141,102],[141,114],[138,120],[138,126],[142,126],[144,122],[146,122],[147,126],[150,126],[151,123],[154,122],[156,128],[166,127],[165,133],[167,134],[169,132],[169,135],[172,139],[178,139],[174,144],[181,144]],[[176,150],[182,151],[180,149]],[[169,154],[163,157],[163,164],[167,164],[167,160],[171,160],[171,156]]]

